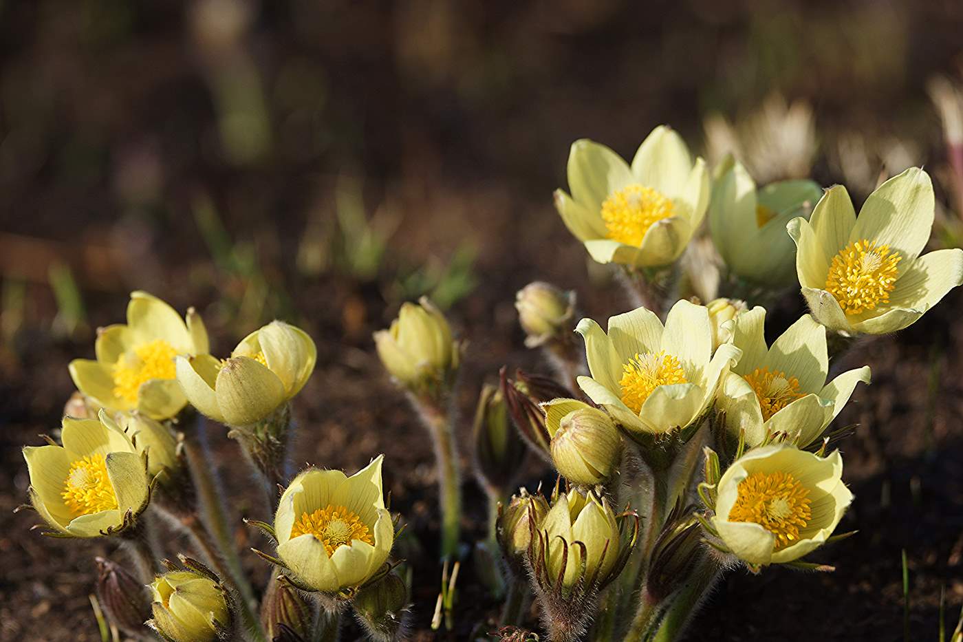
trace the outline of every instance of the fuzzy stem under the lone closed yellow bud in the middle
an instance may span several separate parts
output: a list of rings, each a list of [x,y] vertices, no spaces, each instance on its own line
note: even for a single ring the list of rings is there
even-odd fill
[[[454,425],[442,404],[425,397],[410,395],[434,443],[438,474],[438,500],[441,504],[441,556],[455,557],[461,528],[461,475],[455,449]]]

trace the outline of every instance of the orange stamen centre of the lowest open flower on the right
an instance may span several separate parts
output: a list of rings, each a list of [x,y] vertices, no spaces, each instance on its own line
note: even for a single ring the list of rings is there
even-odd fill
[[[729,522],[755,522],[775,536],[775,549],[799,540],[813,518],[809,489],[788,472],[753,472],[739,483]]]

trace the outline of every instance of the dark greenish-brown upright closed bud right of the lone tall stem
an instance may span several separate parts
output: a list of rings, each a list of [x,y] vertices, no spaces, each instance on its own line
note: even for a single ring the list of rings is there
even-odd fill
[[[494,386],[481,388],[473,436],[481,483],[501,498],[525,461],[526,449],[508,418],[502,391]]]

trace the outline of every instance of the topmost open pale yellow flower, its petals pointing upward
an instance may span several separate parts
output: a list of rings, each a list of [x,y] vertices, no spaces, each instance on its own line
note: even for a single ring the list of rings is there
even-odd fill
[[[660,125],[630,167],[609,147],[576,141],[569,196],[555,192],[561,220],[599,263],[660,267],[677,259],[709,204],[709,173],[671,128]]]

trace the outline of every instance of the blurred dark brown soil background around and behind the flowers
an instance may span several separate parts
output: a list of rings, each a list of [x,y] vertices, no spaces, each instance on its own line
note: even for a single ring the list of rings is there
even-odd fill
[[[133,289],[195,306],[219,354],[275,317],[314,336],[299,452],[349,471],[386,453],[416,629],[433,639],[431,453],[371,333],[421,294],[449,310],[470,342],[466,417],[503,363],[544,371],[522,347],[518,288],[575,288],[596,318],[625,307],[552,206],[568,147],[631,157],[663,122],[710,161],[735,151],[760,182],[812,175],[857,202],[923,165],[934,247],[958,245],[961,34],[958,0],[0,0],[0,639],[100,639],[92,556],[110,543],[44,540],[11,511],[21,445],[59,424],[72,390],[67,361],[91,357]],[[698,638],[937,640],[941,603],[952,629],[961,312],[955,291],[856,356],[873,385],[841,417],[860,425],[844,526],[861,532],[820,552],[839,571],[731,577]],[[468,480],[465,493],[481,535],[483,495]],[[473,598],[472,573],[456,612],[468,629],[497,608]]]

